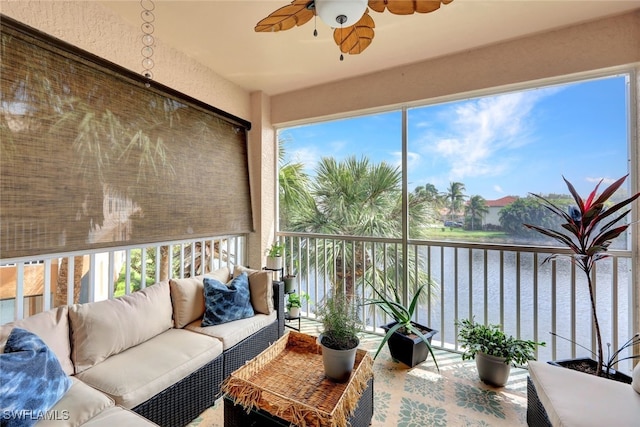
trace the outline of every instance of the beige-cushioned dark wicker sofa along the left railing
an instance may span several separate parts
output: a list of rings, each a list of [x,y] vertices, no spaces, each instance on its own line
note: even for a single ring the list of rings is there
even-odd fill
[[[204,276],[172,279],[2,325],[0,351],[21,327],[56,354],[73,379],[52,408],[69,418],[64,425],[185,425],[213,404],[224,378],[283,333],[283,284],[269,272],[235,268],[242,271],[249,274],[250,318],[201,327]],[[230,271],[207,276],[224,283]]]

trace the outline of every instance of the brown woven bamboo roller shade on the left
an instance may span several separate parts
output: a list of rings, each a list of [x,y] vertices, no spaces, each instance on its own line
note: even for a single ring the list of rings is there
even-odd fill
[[[4,19],[1,33],[0,258],[251,231],[243,126]]]

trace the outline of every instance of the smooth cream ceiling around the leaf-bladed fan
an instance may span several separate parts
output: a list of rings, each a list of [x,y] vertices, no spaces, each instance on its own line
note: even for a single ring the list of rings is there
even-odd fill
[[[332,30],[319,19],[318,37],[313,20],[288,31],[254,32],[260,19],[290,1],[153,0],[154,36],[249,91],[276,95],[640,8],[640,0],[454,0],[428,14],[371,11],[371,46],[340,62]],[[139,0],[102,3],[141,26]]]

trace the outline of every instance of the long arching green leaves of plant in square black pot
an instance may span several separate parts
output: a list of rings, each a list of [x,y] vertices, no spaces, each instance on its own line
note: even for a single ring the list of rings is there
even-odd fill
[[[377,305],[385,313],[391,316],[391,318],[393,318],[393,320],[396,322],[395,325],[389,328],[384,338],[380,342],[380,345],[378,346],[378,351],[376,351],[375,356],[373,356],[374,359],[378,357],[378,354],[380,354],[380,351],[384,348],[384,345],[387,343],[387,341],[389,341],[389,338],[391,338],[391,336],[394,333],[399,332],[405,335],[413,333],[413,334],[416,334],[427,345],[427,348],[429,349],[429,353],[433,358],[433,362],[435,363],[436,368],[438,369],[438,371],[440,370],[440,368],[438,367],[438,361],[436,360],[436,356],[433,353],[433,349],[431,348],[431,343],[429,342],[429,339],[425,337],[425,335],[422,333],[420,328],[417,327],[411,320],[413,319],[414,313],[418,308],[418,299],[420,298],[420,294],[424,290],[425,286],[426,285],[421,285],[418,288],[415,295],[411,299],[411,303],[409,304],[409,307],[405,307],[402,304],[400,295],[398,294],[395,288],[393,288],[393,296],[389,297],[384,293],[382,293],[381,291],[379,291],[377,288],[373,286],[371,287],[371,289],[373,289],[373,291],[375,292],[378,298],[367,301],[365,305],[370,305],[370,304]]]

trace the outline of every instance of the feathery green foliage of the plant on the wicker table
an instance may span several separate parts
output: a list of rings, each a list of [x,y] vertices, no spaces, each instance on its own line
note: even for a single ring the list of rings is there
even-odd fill
[[[358,346],[362,322],[356,300],[354,296],[341,293],[325,297],[317,312],[322,319],[323,345],[335,350],[349,350]]]

